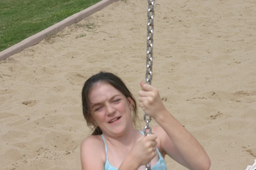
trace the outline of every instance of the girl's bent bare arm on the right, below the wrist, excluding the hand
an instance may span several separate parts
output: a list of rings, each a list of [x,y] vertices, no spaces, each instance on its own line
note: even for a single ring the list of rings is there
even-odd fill
[[[209,170],[211,161],[199,142],[167,111],[155,119],[161,127],[161,146],[174,160],[191,170]]]

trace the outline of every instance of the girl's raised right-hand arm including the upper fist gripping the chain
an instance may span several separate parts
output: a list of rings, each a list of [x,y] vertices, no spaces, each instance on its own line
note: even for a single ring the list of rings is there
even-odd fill
[[[159,92],[141,82],[139,106],[162,127],[162,148],[191,170],[209,170],[211,161],[199,142],[167,111]]]

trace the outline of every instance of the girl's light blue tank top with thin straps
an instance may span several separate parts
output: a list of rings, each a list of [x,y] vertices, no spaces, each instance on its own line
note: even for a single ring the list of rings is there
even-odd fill
[[[140,133],[142,133],[144,135],[144,133],[142,131],[140,131]],[[105,137],[103,135],[101,135],[104,144],[105,144],[105,151],[106,151],[106,163],[104,165],[104,170],[118,170],[118,168],[113,167],[110,163],[109,163],[109,159],[108,159],[108,149],[107,149],[107,144],[106,144],[106,140]],[[162,157],[162,154],[160,153],[159,149],[156,148],[157,153],[159,155],[159,161],[151,167],[151,170],[167,170],[167,165]]]

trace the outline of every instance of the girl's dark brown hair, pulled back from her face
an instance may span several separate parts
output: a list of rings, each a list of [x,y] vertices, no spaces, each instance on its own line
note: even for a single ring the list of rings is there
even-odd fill
[[[91,110],[89,107],[89,92],[92,87],[97,82],[106,82],[111,84],[114,88],[122,92],[126,97],[130,97],[133,100],[133,123],[136,124],[137,115],[137,105],[134,100],[133,95],[128,90],[124,82],[117,76],[108,72],[99,72],[98,74],[93,75],[84,83],[84,87],[82,90],[82,104],[83,104],[83,115],[87,122],[88,126],[93,126],[92,130],[94,130],[92,135],[101,135],[102,130],[97,126],[95,127],[93,122],[90,120],[91,118]]]

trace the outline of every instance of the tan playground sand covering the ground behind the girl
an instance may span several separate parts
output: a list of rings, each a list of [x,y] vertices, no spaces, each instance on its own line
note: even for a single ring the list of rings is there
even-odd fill
[[[91,132],[83,84],[110,71],[138,98],[146,10],[145,0],[115,2],[0,62],[0,170],[81,169],[80,143]],[[243,170],[256,157],[255,18],[255,0],[156,1],[152,85],[212,170]]]

